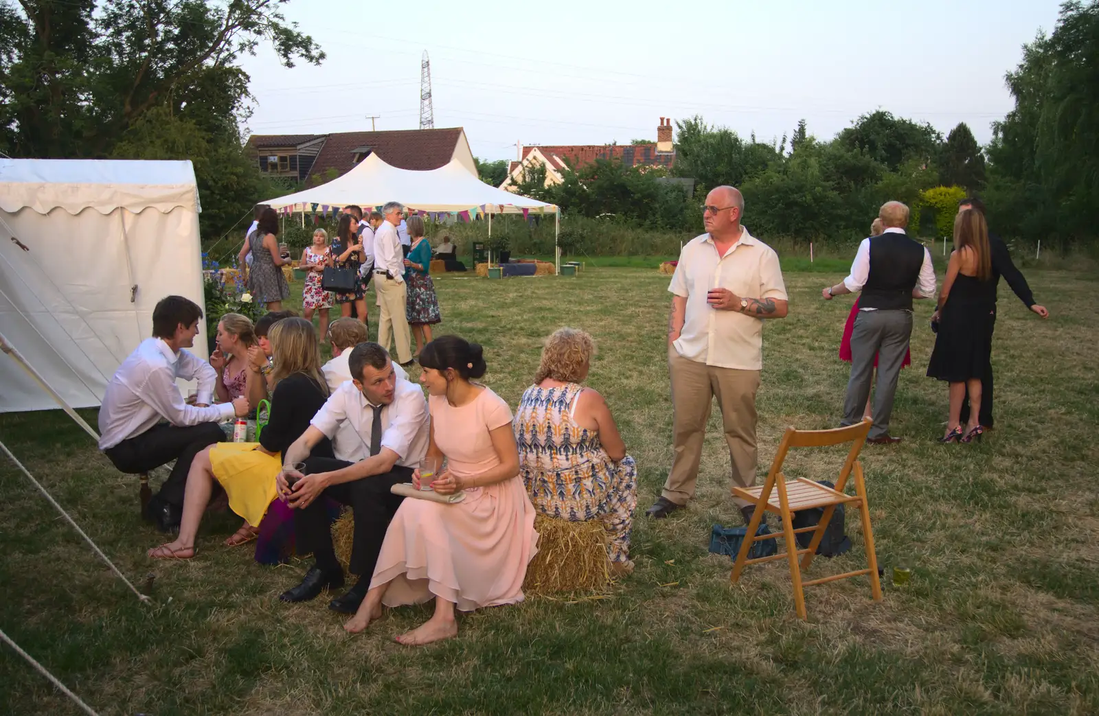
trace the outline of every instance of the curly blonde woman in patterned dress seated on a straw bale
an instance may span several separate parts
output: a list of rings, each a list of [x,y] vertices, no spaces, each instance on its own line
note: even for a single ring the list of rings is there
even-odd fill
[[[559,328],[550,336],[515,412],[520,474],[543,515],[599,519],[613,571],[629,573],[637,468],[602,395],[580,384],[595,351],[584,331]]]

